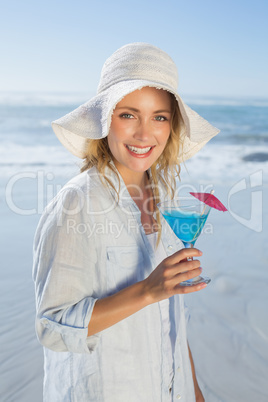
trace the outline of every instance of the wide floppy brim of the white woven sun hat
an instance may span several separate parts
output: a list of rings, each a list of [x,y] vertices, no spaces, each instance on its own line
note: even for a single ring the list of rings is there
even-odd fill
[[[183,162],[196,154],[220,130],[187,106],[171,87],[145,80],[119,82],[97,94],[77,109],[52,122],[52,128],[60,142],[72,154],[79,158],[86,157],[89,139],[101,139],[108,135],[113,111],[118,102],[126,95],[143,87],[164,89],[172,93],[184,121],[182,133],[183,147],[179,161]]]

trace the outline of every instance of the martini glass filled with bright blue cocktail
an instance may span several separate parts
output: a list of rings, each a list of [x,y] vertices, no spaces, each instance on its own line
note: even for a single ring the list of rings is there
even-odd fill
[[[194,247],[211,208],[197,199],[181,200],[179,198],[160,202],[157,206],[175,235],[182,241],[184,247]],[[188,258],[188,260],[193,260],[193,258]],[[211,279],[208,277],[197,276],[181,282],[180,285],[193,286],[199,283],[209,283],[210,281]]]

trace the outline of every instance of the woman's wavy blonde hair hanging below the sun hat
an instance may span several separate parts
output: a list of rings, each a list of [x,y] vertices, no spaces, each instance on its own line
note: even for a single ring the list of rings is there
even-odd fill
[[[151,177],[150,184],[153,191],[154,198],[154,210],[156,212],[156,220],[158,224],[158,240],[157,245],[161,238],[161,221],[160,212],[156,208],[156,204],[160,202],[160,195],[158,190],[158,183],[161,181],[165,190],[171,198],[174,197],[174,191],[176,188],[176,177],[180,176],[180,164],[178,156],[182,147],[181,132],[184,130],[184,122],[180,113],[178,102],[173,94],[171,96],[171,131],[168,138],[167,144],[163,153],[151,166]],[[84,159],[83,165],[81,167],[81,172],[96,166],[98,171],[101,173],[101,179],[104,177],[106,182],[108,182],[112,188],[115,190],[119,197],[118,191],[115,189],[114,185],[111,183],[109,178],[105,176],[104,171],[106,167],[109,167],[118,177],[119,176],[111,163],[113,160],[113,155],[110,151],[107,137],[98,140],[88,140],[86,158]]]

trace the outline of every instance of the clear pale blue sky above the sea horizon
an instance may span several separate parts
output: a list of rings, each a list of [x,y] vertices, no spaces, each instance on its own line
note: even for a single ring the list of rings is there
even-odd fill
[[[187,95],[268,98],[267,0],[0,0],[0,91],[95,94],[130,42],[165,50]]]

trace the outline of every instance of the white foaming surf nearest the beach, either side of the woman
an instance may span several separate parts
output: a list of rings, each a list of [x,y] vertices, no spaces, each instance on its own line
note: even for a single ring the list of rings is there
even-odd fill
[[[81,160],[58,147],[17,144],[0,145],[0,176],[11,177],[23,172],[53,173],[72,177],[79,173]],[[182,183],[188,180],[233,183],[261,170],[268,178],[268,145],[209,143],[197,155],[181,165]]]

